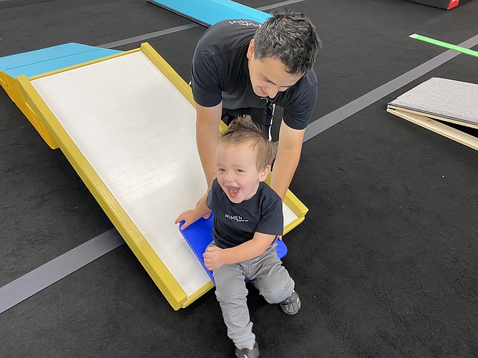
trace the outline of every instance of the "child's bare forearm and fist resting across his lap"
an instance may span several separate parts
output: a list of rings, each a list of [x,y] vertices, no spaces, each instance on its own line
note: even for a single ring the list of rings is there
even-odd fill
[[[208,270],[216,270],[223,265],[252,260],[262,255],[273,242],[274,238],[274,235],[255,232],[252,240],[235,247],[228,249],[221,249],[215,246],[208,247],[203,254],[204,265]]]

